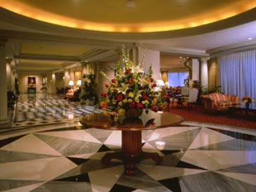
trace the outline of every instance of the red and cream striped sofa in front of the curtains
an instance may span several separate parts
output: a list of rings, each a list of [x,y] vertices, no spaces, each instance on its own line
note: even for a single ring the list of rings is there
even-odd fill
[[[229,107],[239,107],[241,105],[239,96],[221,94],[218,92],[209,95],[202,95],[206,111],[225,111]]]

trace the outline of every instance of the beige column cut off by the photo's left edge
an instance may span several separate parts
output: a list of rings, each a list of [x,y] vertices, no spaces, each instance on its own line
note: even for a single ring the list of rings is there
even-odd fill
[[[0,41],[0,124],[9,122],[6,84],[6,46]]]

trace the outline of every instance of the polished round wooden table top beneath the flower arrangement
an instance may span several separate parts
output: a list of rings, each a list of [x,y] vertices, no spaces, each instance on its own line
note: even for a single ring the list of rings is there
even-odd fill
[[[176,126],[183,122],[183,117],[169,112],[145,112],[139,118],[123,119],[113,122],[108,112],[86,114],[81,117],[80,123],[86,127],[111,130],[138,131],[146,129],[159,129]]]

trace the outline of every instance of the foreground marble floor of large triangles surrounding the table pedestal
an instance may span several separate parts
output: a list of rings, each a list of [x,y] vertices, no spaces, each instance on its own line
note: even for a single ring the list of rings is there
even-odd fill
[[[0,137],[0,191],[256,191],[256,134],[210,124],[142,132],[144,151],[163,157],[124,174],[121,132],[73,126]]]

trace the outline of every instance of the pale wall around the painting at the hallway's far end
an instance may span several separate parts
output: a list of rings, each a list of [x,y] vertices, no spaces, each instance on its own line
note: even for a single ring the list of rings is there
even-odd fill
[[[18,90],[21,93],[28,92],[28,77],[35,77],[36,78],[36,92],[41,92],[41,87],[43,83],[43,74],[18,74]]]

